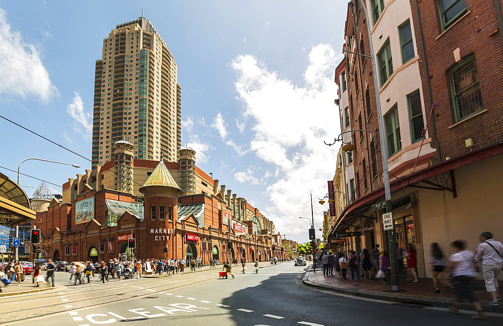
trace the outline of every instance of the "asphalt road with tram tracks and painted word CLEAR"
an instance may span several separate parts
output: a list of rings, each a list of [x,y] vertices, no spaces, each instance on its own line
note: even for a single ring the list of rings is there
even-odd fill
[[[283,263],[235,278],[217,270],[160,279],[63,285],[57,290],[4,297],[0,323],[9,325],[501,325],[440,308],[355,299],[302,285],[304,267]],[[58,273],[65,280],[68,274]],[[57,282],[56,282],[57,283]],[[68,283],[69,284],[69,283]]]

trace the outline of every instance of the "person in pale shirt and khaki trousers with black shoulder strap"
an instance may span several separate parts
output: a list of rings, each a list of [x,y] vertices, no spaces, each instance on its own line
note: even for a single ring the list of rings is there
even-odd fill
[[[491,295],[489,305],[499,306],[498,301],[498,274],[503,267],[503,245],[499,241],[492,239],[492,233],[482,232],[479,236],[480,244],[477,247],[475,261],[482,264],[482,275],[484,276],[485,290]]]

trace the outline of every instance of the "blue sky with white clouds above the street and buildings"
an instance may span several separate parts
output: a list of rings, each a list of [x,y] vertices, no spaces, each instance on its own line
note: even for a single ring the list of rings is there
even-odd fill
[[[182,145],[288,239],[321,232],[340,133],[334,70],[347,2],[0,0],[0,116],[91,159],[95,61],[116,25],[150,20],[182,87]],[[0,172],[46,180],[54,193],[91,162],[0,119]],[[6,169],[7,168],[7,169]],[[10,170],[13,171],[10,171]],[[21,175],[29,197],[40,180]],[[59,185],[59,186],[58,186]]]

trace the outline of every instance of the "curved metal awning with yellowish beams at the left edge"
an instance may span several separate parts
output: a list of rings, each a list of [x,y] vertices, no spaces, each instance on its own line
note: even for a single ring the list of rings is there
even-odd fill
[[[35,211],[23,189],[0,173],[0,225],[15,227],[35,220]]]

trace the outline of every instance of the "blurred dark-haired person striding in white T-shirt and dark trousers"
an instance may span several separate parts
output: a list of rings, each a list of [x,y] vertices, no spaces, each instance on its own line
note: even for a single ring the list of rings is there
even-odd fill
[[[449,308],[449,312],[459,313],[459,305],[463,299],[467,299],[478,312],[478,314],[471,316],[472,319],[486,320],[487,314],[482,310],[480,302],[470,286],[472,280],[478,275],[477,265],[473,261],[474,254],[465,248],[466,245],[461,240],[451,243],[453,254],[449,257],[449,270],[456,284],[457,298],[454,305]]]

